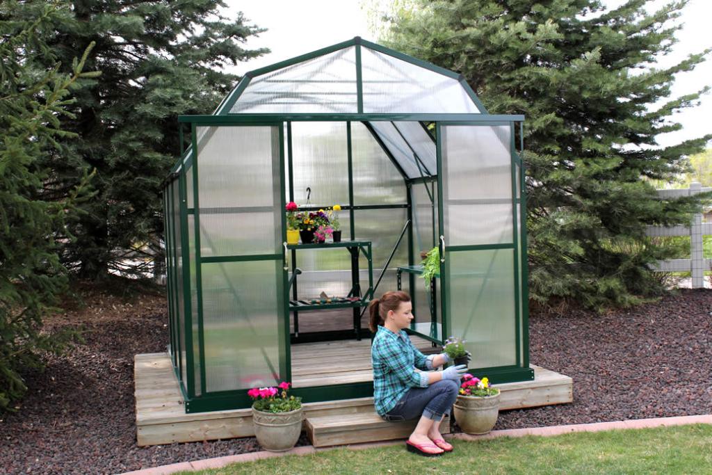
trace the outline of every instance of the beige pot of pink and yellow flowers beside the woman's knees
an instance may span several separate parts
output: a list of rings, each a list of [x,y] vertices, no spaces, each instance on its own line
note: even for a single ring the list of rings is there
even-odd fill
[[[486,377],[478,380],[466,373],[462,379],[454,404],[455,420],[466,434],[487,434],[497,423],[500,391]]]

